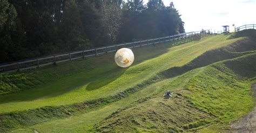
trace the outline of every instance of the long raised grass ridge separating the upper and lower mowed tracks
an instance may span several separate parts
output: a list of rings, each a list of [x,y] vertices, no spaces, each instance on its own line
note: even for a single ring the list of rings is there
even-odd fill
[[[176,77],[192,69],[204,67],[214,62],[239,57],[245,54],[248,53],[232,53],[231,51],[227,50],[227,47],[221,47],[218,49],[206,51],[204,54],[198,56],[190,63],[185,64],[182,67],[173,67],[159,72],[157,75],[144,80],[142,83],[137,84],[136,86],[105,98],[99,98],[65,106],[45,106],[42,108],[25,110],[22,112],[0,114],[0,131],[4,132],[10,129],[35,125],[50,120],[90,112],[93,109],[103,107],[111,102],[125,98],[129,96],[129,94],[142,90],[146,86],[160,82],[161,80]],[[218,57],[213,55],[218,55]]]

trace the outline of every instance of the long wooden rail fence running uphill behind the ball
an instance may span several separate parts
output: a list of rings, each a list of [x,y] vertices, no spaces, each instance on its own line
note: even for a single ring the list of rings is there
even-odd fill
[[[103,55],[107,53],[112,53],[114,51],[117,51],[120,48],[143,47],[143,46],[157,44],[160,42],[176,41],[180,39],[190,38],[191,36],[194,36],[194,35],[211,34],[211,33],[212,33],[211,29],[207,29],[204,31],[187,32],[187,33],[181,33],[181,34],[172,35],[172,36],[165,36],[162,38],[122,43],[122,44],[112,45],[112,46],[98,47],[93,49],[72,51],[70,53],[62,53],[62,54],[32,58],[29,60],[9,62],[9,63],[0,64],[0,72],[12,72],[12,71],[22,71],[22,70],[32,69],[32,68],[40,68],[46,65],[52,65],[52,64],[57,64],[61,62],[77,60],[78,58],[86,58],[91,56],[98,56],[98,55]]]

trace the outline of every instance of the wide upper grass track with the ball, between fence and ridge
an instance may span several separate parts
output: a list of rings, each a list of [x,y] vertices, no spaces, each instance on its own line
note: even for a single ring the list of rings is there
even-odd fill
[[[87,70],[86,67],[78,67],[78,72],[74,72],[72,75],[68,73],[64,77],[60,76],[54,82],[47,82],[46,80],[44,82],[45,85],[35,86],[17,93],[1,95],[0,113],[44,106],[66,105],[116,94],[142,82],[159,71],[182,66],[205,51],[223,47],[242,39],[226,40],[227,38],[227,35],[215,35],[175,47],[165,43],[134,49],[135,62],[132,67],[127,69],[118,68],[114,64],[113,54],[110,54],[24,73],[1,74],[2,77],[22,75],[26,78],[29,75],[26,73],[32,73],[33,71],[35,73],[38,73],[37,71],[54,73],[70,67],[69,71],[72,73],[72,71],[75,71],[72,69],[77,69],[76,65],[88,65],[91,67],[90,70]],[[41,76],[47,78],[48,75],[44,73]],[[49,77],[52,78],[51,76]]]

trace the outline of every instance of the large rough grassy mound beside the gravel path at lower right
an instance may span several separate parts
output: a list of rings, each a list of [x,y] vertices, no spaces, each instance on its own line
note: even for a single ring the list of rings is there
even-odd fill
[[[174,98],[163,99],[160,94],[137,102],[97,124],[93,131],[183,131],[198,130],[209,124],[224,124],[238,119],[253,108],[251,81],[234,71],[247,70],[246,64],[256,65],[256,54],[215,63],[197,71]],[[255,73],[250,77],[255,77]],[[183,77],[179,77],[180,80]],[[177,79],[179,80],[179,79]],[[172,88],[171,82],[164,88]],[[164,89],[163,89],[164,90]],[[222,127],[221,127],[222,128]]]

